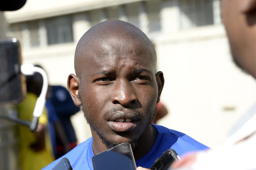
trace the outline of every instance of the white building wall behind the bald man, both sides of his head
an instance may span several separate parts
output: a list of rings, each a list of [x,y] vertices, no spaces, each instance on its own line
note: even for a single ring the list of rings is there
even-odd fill
[[[215,25],[184,31],[180,30],[178,0],[96,0],[87,1],[87,6],[86,1],[67,0],[63,1],[66,6],[58,8],[59,3],[51,0],[53,8],[49,9],[42,9],[47,5],[38,7],[39,2],[33,5],[34,1],[37,0],[28,0],[23,11],[5,13],[7,21],[72,15],[73,43],[46,45],[47,39],[40,38],[39,47],[23,48],[24,63],[41,64],[51,84],[66,87],[68,75],[74,73],[76,43],[86,30],[102,20],[119,18],[144,30],[155,44],[157,68],[165,76],[161,101],[169,110],[159,124],[215,147],[224,142],[228,130],[256,100],[255,81],[241,73],[231,61],[226,34],[218,16],[218,0],[213,0]],[[43,35],[45,26],[42,21],[39,23],[40,35]],[[82,113],[74,115],[72,121],[79,142],[87,139],[90,130]]]

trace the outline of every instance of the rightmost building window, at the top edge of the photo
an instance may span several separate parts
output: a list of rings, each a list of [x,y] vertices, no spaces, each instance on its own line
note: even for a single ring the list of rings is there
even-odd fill
[[[213,0],[179,0],[179,7],[181,29],[214,23]]]

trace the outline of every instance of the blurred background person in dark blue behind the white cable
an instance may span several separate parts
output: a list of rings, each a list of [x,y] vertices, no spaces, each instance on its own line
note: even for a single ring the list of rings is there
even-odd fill
[[[44,69],[39,64],[35,66]],[[68,91],[64,87],[61,87],[62,91],[60,92],[56,92],[55,87],[59,86],[48,86],[45,105],[48,113],[53,153],[55,159],[57,159],[76,146],[76,137],[70,116],[75,114],[77,110],[79,111],[80,108],[74,105],[69,93],[68,96],[66,95]],[[63,88],[66,90],[66,93]]]

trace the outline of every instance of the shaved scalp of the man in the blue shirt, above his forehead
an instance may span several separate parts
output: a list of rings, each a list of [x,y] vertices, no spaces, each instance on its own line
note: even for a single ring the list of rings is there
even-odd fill
[[[79,40],[74,58],[74,66],[76,76],[80,78],[83,65],[81,59],[87,57],[92,46],[102,47],[105,44],[119,42],[119,47],[122,47],[122,40],[127,42],[137,41],[143,43],[148,50],[151,51],[151,62],[156,65],[156,51],[153,43],[149,40],[136,26],[121,20],[108,20],[90,28]],[[138,51],[137,51],[138,52]],[[97,56],[100,57],[101,56]]]

